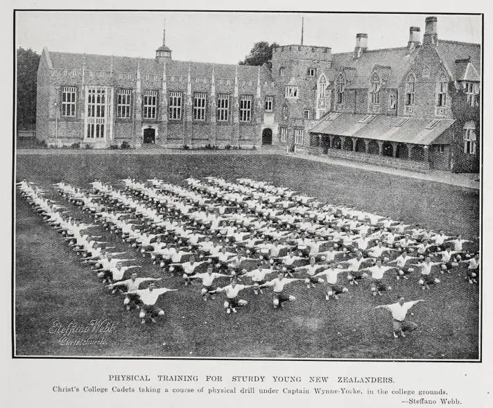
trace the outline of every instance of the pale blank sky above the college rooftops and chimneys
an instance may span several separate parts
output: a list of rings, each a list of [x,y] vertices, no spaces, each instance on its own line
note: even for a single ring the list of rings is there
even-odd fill
[[[481,43],[481,17],[435,15],[439,39]],[[235,64],[254,42],[329,46],[333,53],[352,51],[356,33],[368,34],[368,48],[406,46],[409,27],[421,28],[427,15],[372,15],[273,12],[49,12],[16,14],[16,46],[50,51],[155,57],[162,44],[173,60]]]

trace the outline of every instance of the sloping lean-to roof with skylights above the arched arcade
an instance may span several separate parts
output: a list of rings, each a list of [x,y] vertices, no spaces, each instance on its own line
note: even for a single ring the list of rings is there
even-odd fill
[[[437,138],[454,122],[451,119],[441,119],[431,129],[426,127],[433,121],[427,118],[408,118],[403,125],[395,126],[404,116],[377,115],[369,123],[361,123],[367,115],[340,114],[333,121],[328,116],[311,128],[311,133],[336,134],[339,136],[354,136],[364,139],[393,141],[398,143],[414,143],[431,145],[438,143]],[[440,144],[450,143],[445,136],[440,137]]]

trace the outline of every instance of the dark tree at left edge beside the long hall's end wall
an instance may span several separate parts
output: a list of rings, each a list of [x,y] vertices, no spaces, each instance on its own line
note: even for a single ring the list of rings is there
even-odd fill
[[[36,79],[40,55],[31,48],[17,48],[17,129],[34,129]]]

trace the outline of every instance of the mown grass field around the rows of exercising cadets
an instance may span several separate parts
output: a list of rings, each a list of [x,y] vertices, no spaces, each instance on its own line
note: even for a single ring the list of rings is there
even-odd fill
[[[100,177],[117,183],[123,177],[159,177],[181,184],[188,177],[252,177],[289,186],[336,204],[356,206],[447,233],[477,239],[479,197],[476,190],[418,179],[388,176],[278,155],[21,155],[17,179],[43,186],[64,179],[87,187]],[[56,199],[60,200],[58,196]],[[67,204],[70,205],[70,204]],[[73,213],[77,210],[69,208]],[[159,301],[166,319],[141,326],[123,299],[107,293],[88,268],[78,262],[61,236],[17,197],[16,346],[19,355],[107,355],[173,357],[476,359],[478,358],[478,287],[455,272],[432,290],[422,291],[417,278],[395,281],[390,294],[370,295],[369,285],[350,287],[340,301],[325,301],[322,287],[308,290],[288,285],[297,301],[283,310],[272,308],[270,294],[254,296],[239,313],[225,314],[223,298],[205,303],[200,285],[184,287],[164,276],[163,285],[179,288]],[[98,227],[91,231],[100,235]],[[106,234],[107,235],[107,234]],[[105,237],[107,238],[107,237]],[[110,239],[112,239],[110,237]],[[149,258],[140,276],[160,276]],[[420,328],[395,340],[388,312],[373,310],[395,294],[426,300],[411,310]],[[110,319],[116,328],[104,335],[103,346],[62,346],[51,334],[53,321],[88,324]],[[79,336],[80,337],[80,336]],[[79,338],[73,335],[74,339]]]

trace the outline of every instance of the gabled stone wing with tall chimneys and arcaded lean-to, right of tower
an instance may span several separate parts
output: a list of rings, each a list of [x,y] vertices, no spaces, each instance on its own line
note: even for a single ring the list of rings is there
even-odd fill
[[[313,152],[414,170],[479,169],[481,47],[438,39],[436,17],[407,46],[334,54],[318,77]]]

